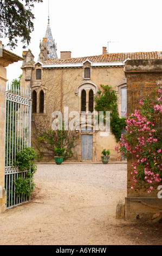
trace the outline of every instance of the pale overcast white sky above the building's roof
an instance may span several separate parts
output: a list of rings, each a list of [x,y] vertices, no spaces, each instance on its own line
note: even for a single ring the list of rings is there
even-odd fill
[[[161,9],[161,0],[49,0],[57,56],[60,58],[60,51],[71,51],[72,58],[99,55],[102,46],[108,46],[109,53],[162,51]],[[48,23],[48,0],[36,3],[33,13],[35,29],[27,50],[37,61]],[[13,52],[22,56],[22,46],[19,44]],[[21,65],[9,65],[9,81],[22,74]]]

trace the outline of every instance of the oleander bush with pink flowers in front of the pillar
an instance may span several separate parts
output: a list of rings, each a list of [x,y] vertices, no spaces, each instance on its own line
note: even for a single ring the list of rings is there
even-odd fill
[[[133,156],[132,184],[137,183],[153,190],[162,179],[162,86],[139,101],[139,109],[126,116],[126,131],[121,135],[118,153]],[[134,185],[131,186],[134,188]]]

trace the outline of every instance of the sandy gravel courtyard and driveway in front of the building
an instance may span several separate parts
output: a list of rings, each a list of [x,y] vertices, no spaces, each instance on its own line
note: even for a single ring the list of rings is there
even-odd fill
[[[37,164],[31,202],[0,215],[0,245],[160,244],[159,226],[115,219],[116,205],[126,197],[126,168]],[[154,231],[152,239],[148,231]]]

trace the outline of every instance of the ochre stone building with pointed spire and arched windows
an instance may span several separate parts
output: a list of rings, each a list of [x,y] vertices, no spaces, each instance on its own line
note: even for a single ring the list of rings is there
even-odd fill
[[[57,57],[57,48],[51,34],[48,21],[46,35],[40,42],[40,54],[34,61],[33,53],[23,52],[23,75],[21,87],[29,87],[33,95],[33,141],[36,139],[36,127],[46,126],[51,129],[54,118],[52,113],[60,111],[68,114],[73,111],[85,112],[91,118],[94,113],[94,96],[101,90],[100,85],[109,85],[118,94],[119,116],[124,117],[127,111],[127,78],[125,75],[126,60],[161,59],[162,52],[135,53],[107,53],[102,47],[101,55],[71,58],[71,52],[61,52]],[[69,118],[72,118],[70,116]],[[46,124],[46,125],[45,125]],[[104,136],[94,129],[94,124],[85,126],[91,128],[80,129],[75,132],[79,136],[79,143],[74,148],[74,155],[70,161],[101,161],[101,151],[111,151],[110,161],[119,161],[120,155],[114,150],[117,145],[112,132]],[[47,161],[54,161],[48,157]]]

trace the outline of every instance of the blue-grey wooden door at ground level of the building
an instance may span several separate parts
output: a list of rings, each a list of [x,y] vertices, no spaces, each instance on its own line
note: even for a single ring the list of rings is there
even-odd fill
[[[93,135],[82,135],[82,160],[92,160]]]

